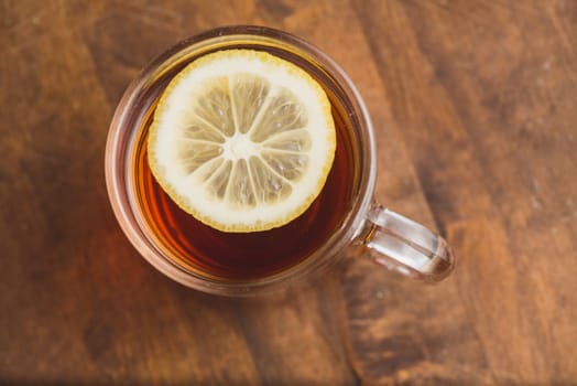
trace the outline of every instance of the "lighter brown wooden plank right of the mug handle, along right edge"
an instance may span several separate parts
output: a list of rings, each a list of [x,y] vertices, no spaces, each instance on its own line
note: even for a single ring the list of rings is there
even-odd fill
[[[577,332],[560,304],[573,298],[575,305],[576,272],[567,243],[575,232],[559,224],[567,202],[558,197],[577,189],[562,180],[575,174],[576,119],[575,87],[549,56],[563,52],[558,37],[531,7],[387,4],[357,10],[427,201],[461,257],[455,280],[466,324],[482,342],[487,379],[568,382],[575,355],[551,362],[570,352],[565,342]],[[544,202],[553,207],[544,211]],[[559,249],[555,261],[551,248]],[[554,330],[551,317],[559,321]]]

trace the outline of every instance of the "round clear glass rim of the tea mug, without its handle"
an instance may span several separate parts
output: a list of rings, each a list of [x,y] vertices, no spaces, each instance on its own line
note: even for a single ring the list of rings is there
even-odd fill
[[[144,97],[144,92],[155,78],[155,74],[162,73],[171,62],[182,57],[185,52],[193,51],[195,46],[198,46],[196,50],[199,50],[200,46],[208,45],[210,42],[226,46],[227,42],[232,42],[235,39],[240,40],[241,37],[280,42],[287,47],[297,50],[297,54],[303,53],[315,58],[317,62],[315,65],[322,65],[322,69],[326,71],[330,78],[334,79],[335,86],[339,87],[339,93],[341,93],[339,97],[345,97],[351,105],[345,106],[345,108],[352,120],[356,135],[360,137],[358,139],[360,142],[360,176],[358,193],[352,200],[352,207],[349,210],[347,217],[333,232],[331,236],[311,256],[306,257],[303,262],[262,279],[219,281],[194,275],[176,265],[168,257],[163,256],[162,251],[145,235],[145,229],[139,225],[139,218],[134,211],[131,210],[129,189],[127,189],[127,184],[130,184],[130,179],[126,175],[124,168],[121,167],[121,164],[127,162],[127,144],[123,143],[123,139],[127,135],[131,135],[129,137],[135,135],[135,132],[127,133],[127,127],[130,131],[137,130],[134,127],[123,124],[126,124],[129,115],[133,112],[132,107]],[[336,257],[342,255],[341,253],[347,246],[359,236],[373,201],[377,180],[377,147],[372,122],[364,100],[350,77],[333,58],[313,44],[281,30],[257,25],[227,25],[208,30],[177,42],[152,60],[130,83],[117,105],[109,127],[105,171],[108,196],[115,216],[130,243],[144,259],[167,277],[187,287],[214,294],[246,296],[280,288],[282,285],[307,276],[306,274],[311,271],[318,271],[333,265]]]

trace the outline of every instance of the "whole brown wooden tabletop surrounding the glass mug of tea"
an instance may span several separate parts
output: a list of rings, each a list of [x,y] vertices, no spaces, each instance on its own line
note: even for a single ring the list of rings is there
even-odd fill
[[[577,384],[577,1],[0,4],[0,383]],[[451,278],[351,258],[225,299],[139,257],[105,187],[115,106],[174,42],[246,23],[349,73],[375,196],[447,237]]]

